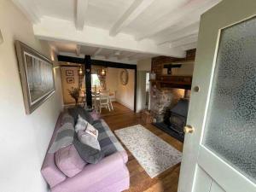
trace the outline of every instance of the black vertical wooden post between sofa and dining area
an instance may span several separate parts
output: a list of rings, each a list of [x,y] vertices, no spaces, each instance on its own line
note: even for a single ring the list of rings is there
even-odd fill
[[[85,74],[85,88],[86,88],[86,103],[87,107],[92,107],[91,98],[91,60],[90,55],[84,57],[84,74]]]

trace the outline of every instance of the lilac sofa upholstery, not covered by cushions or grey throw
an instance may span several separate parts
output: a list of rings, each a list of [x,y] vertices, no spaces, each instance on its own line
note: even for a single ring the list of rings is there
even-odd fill
[[[61,116],[55,126],[49,148],[54,141],[56,131],[61,127]],[[102,125],[109,129],[103,120]],[[113,134],[110,130],[109,132]],[[129,189],[130,186],[130,176],[125,165],[127,160],[125,149],[121,147],[119,151],[104,157],[97,164],[87,164],[75,176],[67,177],[55,165],[55,154],[47,153],[41,172],[49,183],[51,192],[120,192]]]

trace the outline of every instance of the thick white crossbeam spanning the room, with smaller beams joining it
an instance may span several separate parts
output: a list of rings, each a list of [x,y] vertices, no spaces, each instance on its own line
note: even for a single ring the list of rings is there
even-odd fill
[[[108,30],[86,26],[86,30],[77,31],[72,21],[43,17],[41,22],[33,26],[34,35],[41,40],[64,41],[82,46],[102,47],[122,51],[184,57],[182,49],[171,49],[168,45],[158,46],[153,40],[136,41],[132,35],[119,33],[109,36]]]

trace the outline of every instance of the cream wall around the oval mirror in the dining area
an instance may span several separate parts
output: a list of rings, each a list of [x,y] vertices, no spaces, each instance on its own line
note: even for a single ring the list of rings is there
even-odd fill
[[[125,105],[125,107],[130,108],[131,110],[134,109],[134,70],[127,69],[129,73],[129,80],[128,84],[121,84],[119,75],[122,69],[119,69],[118,73],[118,89],[116,91],[116,100],[121,104]]]

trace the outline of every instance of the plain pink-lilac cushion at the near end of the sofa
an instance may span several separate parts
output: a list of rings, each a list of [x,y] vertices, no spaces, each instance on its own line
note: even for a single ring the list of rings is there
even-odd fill
[[[59,149],[55,153],[55,164],[67,177],[73,177],[81,172],[86,165],[73,144]]]

